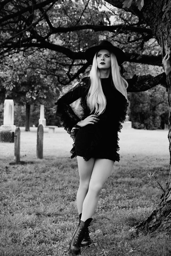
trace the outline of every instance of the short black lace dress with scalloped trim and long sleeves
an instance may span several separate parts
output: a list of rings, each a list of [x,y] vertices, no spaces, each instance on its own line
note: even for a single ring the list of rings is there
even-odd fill
[[[138,76],[134,75],[132,79],[126,79],[128,82],[127,92],[145,91],[157,84],[164,87],[166,84],[166,74],[163,72],[156,77],[151,75]],[[64,129],[73,139],[73,148],[71,149],[71,158],[82,156],[85,161],[91,157],[106,158],[113,161],[120,160],[119,154],[119,137],[118,132],[122,129],[122,123],[126,118],[128,102],[113,85],[111,77],[101,79],[102,90],[106,97],[106,108],[104,113],[100,114],[97,123],[88,124],[84,127],[76,125],[81,119],[73,112],[69,106],[72,102],[81,98],[81,106],[84,110],[85,119],[87,116],[94,114],[86,104],[86,95],[90,88],[90,78],[84,77],[79,80],[76,86],[67,91],[56,103],[56,115],[61,117]],[[75,129],[72,128],[75,126]]]

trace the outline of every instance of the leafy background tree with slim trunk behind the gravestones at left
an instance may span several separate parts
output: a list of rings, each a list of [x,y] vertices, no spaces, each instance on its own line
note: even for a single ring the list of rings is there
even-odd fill
[[[28,57],[33,58],[30,55]],[[38,61],[41,59],[37,59]],[[38,70],[33,72],[28,58],[24,57],[21,52],[15,53],[12,58],[6,56],[1,63],[2,69],[0,88],[5,92],[2,99],[13,99],[14,103],[18,105],[18,110],[19,106],[26,106],[25,130],[29,131],[30,106],[38,106],[40,109],[39,105],[45,104],[47,109],[52,108],[53,101],[55,102],[60,94],[60,85],[57,86],[58,82],[52,76],[47,78]],[[18,119],[18,121],[23,123],[22,119]]]

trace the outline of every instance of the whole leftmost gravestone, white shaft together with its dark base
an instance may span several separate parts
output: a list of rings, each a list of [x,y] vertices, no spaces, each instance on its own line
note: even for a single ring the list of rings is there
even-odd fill
[[[1,142],[14,142],[14,101],[5,100],[4,102],[4,121],[1,125],[0,141]]]

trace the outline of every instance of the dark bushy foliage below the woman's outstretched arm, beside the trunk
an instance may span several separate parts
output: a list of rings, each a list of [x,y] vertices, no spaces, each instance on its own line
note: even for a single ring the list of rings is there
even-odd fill
[[[164,87],[159,85],[145,92],[129,93],[129,100],[133,128],[164,129],[164,123],[168,124],[168,103]]]

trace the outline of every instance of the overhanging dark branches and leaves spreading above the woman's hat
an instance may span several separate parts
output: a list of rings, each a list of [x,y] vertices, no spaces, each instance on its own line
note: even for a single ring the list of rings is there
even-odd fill
[[[88,67],[79,61],[85,59],[87,47],[109,39],[128,53],[129,61],[151,61],[161,65],[160,55],[151,58],[143,55],[142,58],[142,53],[138,49],[136,51],[136,45],[142,49],[145,42],[154,36],[145,21],[139,21],[135,14],[112,7],[103,0],[53,1],[51,7],[50,3],[50,0],[34,1],[28,5],[20,0],[3,5],[0,19],[2,55],[26,51],[31,47],[50,49],[58,53],[60,60],[67,59],[69,72],[71,66],[77,65],[79,75]],[[130,49],[134,49],[136,55],[130,55]]]

